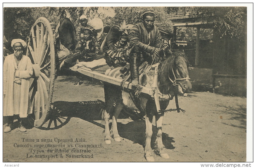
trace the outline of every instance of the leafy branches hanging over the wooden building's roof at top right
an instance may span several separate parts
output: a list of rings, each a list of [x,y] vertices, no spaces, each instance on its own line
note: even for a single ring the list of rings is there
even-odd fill
[[[213,23],[220,37],[242,39],[245,34],[246,7],[165,7],[165,11],[168,14],[178,11],[194,12],[195,16],[191,15],[191,18],[199,17],[205,23]]]

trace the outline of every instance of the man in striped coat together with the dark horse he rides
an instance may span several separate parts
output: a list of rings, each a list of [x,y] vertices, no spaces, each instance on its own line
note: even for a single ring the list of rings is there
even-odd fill
[[[151,148],[153,130],[156,135],[155,154],[169,159],[162,140],[164,111],[174,96],[177,100],[178,94],[185,96],[191,90],[191,83],[185,53],[164,51],[167,49],[167,45],[162,43],[160,32],[154,26],[155,13],[144,12],[142,19],[143,22],[134,25],[129,32],[131,47],[127,52],[130,54],[126,55],[129,56],[132,85],[135,87],[131,87],[132,89],[125,87],[124,81],[128,79],[129,75],[124,77],[124,74],[127,74],[123,73],[122,68],[124,67],[109,69],[105,72],[105,75],[119,79],[122,83],[119,86],[108,82],[103,83],[105,95],[105,106],[102,110],[105,120],[104,139],[106,144],[111,144],[112,138],[120,142],[122,138],[118,134],[118,115],[121,111],[139,110],[140,115],[145,116],[146,124],[144,156],[147,161],[155,161]],[[165,54],[165,58],[160,57]],[[150,66],[147,63],[154,65]],[[142,72],[140,80],[139,72]],[[138,85],[139,82],[140,85]],[[152,91],[152,95],[142,91],[145,88]],[[176,107],[179,110],[177,101]],[[155,118],[156,129],[152,129],[153,118]],[[112,119],[111,129],[109,128],[109,119]]]

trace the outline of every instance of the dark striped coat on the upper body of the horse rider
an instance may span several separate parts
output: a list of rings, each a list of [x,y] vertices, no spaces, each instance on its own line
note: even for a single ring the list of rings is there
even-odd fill
[[[149,38],[150,36],[150,38]],[[162,45],[161,34],[156,26],[147,33],[146,28],[143,23],[135,24],[129,33],[130,46],[137,46],[141,48],[142,51],[153,54],[155,48],[160,48]]]

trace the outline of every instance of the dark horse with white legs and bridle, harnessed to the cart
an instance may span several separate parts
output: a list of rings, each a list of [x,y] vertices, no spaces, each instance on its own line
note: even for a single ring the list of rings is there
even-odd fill
[[[120,142],[121,138],[118,134],[117,119],[122,109],[134,110],[138,109],[145,114],[146,123],[146,141],[144,147],[144,157],[147,161],[155,161],[153,152],[150,146],[152,131],[153,116],[156,119],[156,141],[155,153],[162,158],[168,159],[169,156],[164,152],[162,143],[162,120],[164,110],[167,108],[173,95],[187,94],[192,86],[187,69],[188,60],[185,53],[182,51],[173,52],[158,66],[157,85],[158,91],[162,95],[171,95],[169,100],[159,100],[160,112],[157,112],[157,107],[154,99],[149,95],[141,92],[137,97],[129,89],[118,87],[110,83],[103,83],[105,94],[105,107],[102,110],[102,117],[105,120],[105,143],[111,144],[111,135],[115,141]],[[122,79],[120,67],[106,71],[106,75]],[[150,69],[150,67],[148,68]],[[154,74],[153,70],[145,71],[140,75],[140,85],[152,87]],[[115,104],[115,105],[113,105]],[[109,118],[112,117],[112,128],[109,130]]]

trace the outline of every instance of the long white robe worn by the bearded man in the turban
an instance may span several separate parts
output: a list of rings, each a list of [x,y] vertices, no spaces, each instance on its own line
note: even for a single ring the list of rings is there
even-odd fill
[[[14,82],[16,73],[21,84]],[[31,59],[22,55],[19,65],[16,64],[14,54],[5,57],[3,67],[3,116],[19,114],[21,118],[32,113],[29,100],[29,78],[33,74]],[[15,89],[15,91],[14,91]]]

